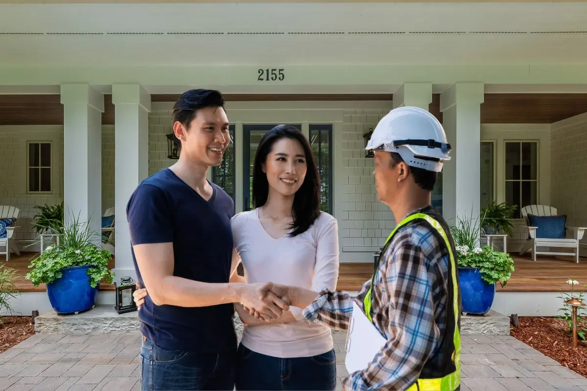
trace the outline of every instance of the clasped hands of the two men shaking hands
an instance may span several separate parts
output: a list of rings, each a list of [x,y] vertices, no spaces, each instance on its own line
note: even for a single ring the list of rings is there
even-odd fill
[[[269,322],[289,311],[289,306],[299,307],[295,287],[274,283],[244,284],[239,292],[241,304],[249,315]]]

